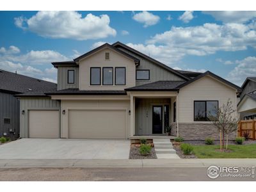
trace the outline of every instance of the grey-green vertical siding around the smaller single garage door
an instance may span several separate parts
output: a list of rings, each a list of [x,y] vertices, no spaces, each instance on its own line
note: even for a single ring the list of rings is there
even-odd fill
[[[22,111],[25,111],[22,114]],[[29,110],[59,110],[60,101],[50,97],[20,98],[20,138],[29,137]]]

